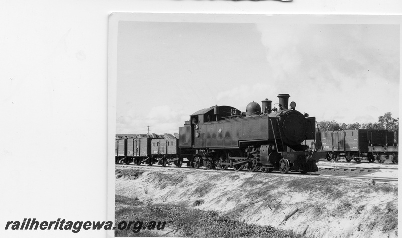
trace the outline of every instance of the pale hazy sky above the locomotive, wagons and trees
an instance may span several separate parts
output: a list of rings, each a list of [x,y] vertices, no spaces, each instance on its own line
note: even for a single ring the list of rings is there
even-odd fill
[[[398,25],[120,21],[116,133],[174,133],[282,93],[317,121],[397,118],[399,44]]]

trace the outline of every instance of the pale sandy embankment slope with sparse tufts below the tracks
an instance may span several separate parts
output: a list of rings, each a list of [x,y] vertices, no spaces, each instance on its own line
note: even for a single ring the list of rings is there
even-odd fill
[[[140,201],[193,207],[202,200],[197,209],[247,223],[299,234],[308,226],[308,237],[397,237],[397,182],[123,166],[116,175],[116,194]]]

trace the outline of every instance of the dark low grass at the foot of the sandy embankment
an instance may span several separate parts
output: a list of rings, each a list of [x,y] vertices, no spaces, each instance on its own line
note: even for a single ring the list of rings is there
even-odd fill
[[[115,224],[121,221],[166,221],[163,232],[115,230],[115,236],[163,236],[167,233],[184,237],[301,237],[292,231],[271,226],[246,224],[215,211],[189,209],[171,204],[152,204],[115,196]],[[194,203],[194,206],[199,203]]]

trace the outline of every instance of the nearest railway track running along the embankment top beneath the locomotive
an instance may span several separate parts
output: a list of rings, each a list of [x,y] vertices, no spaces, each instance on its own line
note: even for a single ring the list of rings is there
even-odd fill
[[[186,167],[183,166],[181,168],[177,168],[175,166],[146,166],[146,165],[134,165],[134,164],[117,164],[116,166],[120,167],[132,167],[132,168],[154,168],[154,169],[193,169],[192,167]],[[335,168],[334,168],[335,169]],[[357,168],[352,168],[352,169],[357,169]],[[372,169],[372,168],[369,168]],[[384,168],[381,168],[384,169]],[[374,169],[373,169],[374,170]],[[197,169],[197,171],[204,171],[204,172],[209,172],[211,170],[203,170],[203,169]],[[214,171],[214,170],[212,170]],[[228,169],[226,171],[221,171],[221,170],[215,170],[215,171],[220,171],[220,172],[234,172],[232,169]],[[248,171],[238,171],[237,173],[250,173]],[[257,171],[257,173],[262,173],[261,171]],[[319,174],[319,173],[308,173],[308,174],[299,174],[299,173],[287,173],[287,174],[281,174],[279,171],[273,171],[270,172],[269,174],[275,175],[275,176],[290,176],[290,177],[300,177],[300,176],[317,176],[317,177],[336,177],[336,178],[352,178],[352,179],[361,179],[361,180],[369,180],[369,179],[374,179],[375,181],[381,181],[381,182],[390,182],[390,181],[398,181],[398,178],[392,178],[392,177],[380,177],[380,176],[358,176],[358,175],[329,175],[329,174]]]

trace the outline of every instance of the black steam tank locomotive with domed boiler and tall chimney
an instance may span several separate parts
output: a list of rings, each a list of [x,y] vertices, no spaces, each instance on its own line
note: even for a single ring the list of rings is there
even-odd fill
[[[279,94],[279,108],[271,100],[256,102],[246,112],[230,106],[213,106],[190,115],[179,128],[181,156],[194,168],[232,167],[281,173],[318,171],[316,162],[325,152],[308,151],[304,140],[315,139],[315,117],[295,110],[288,94]]]

